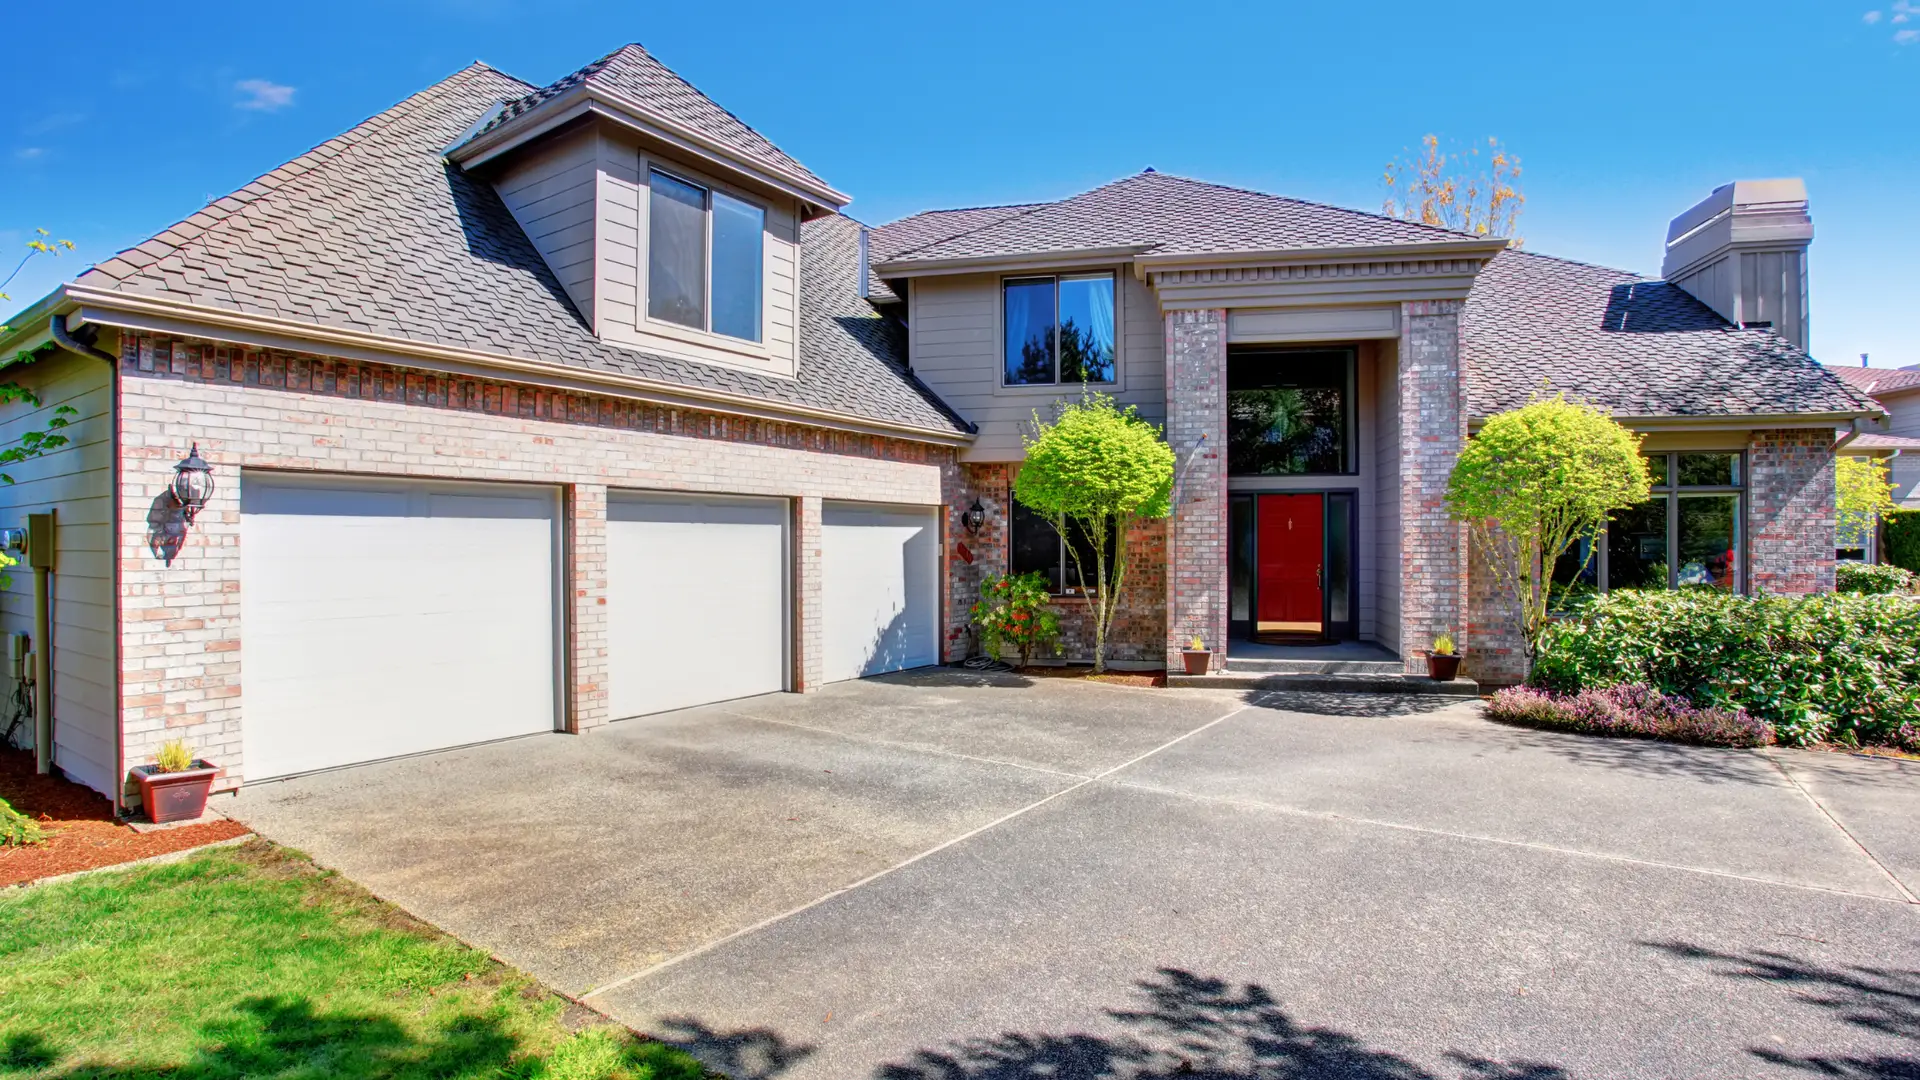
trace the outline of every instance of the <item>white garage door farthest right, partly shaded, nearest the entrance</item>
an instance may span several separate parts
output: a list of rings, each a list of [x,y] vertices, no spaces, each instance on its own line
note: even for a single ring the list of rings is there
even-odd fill
[[[939,663],[935,507],[822,505],[828,682]]]

